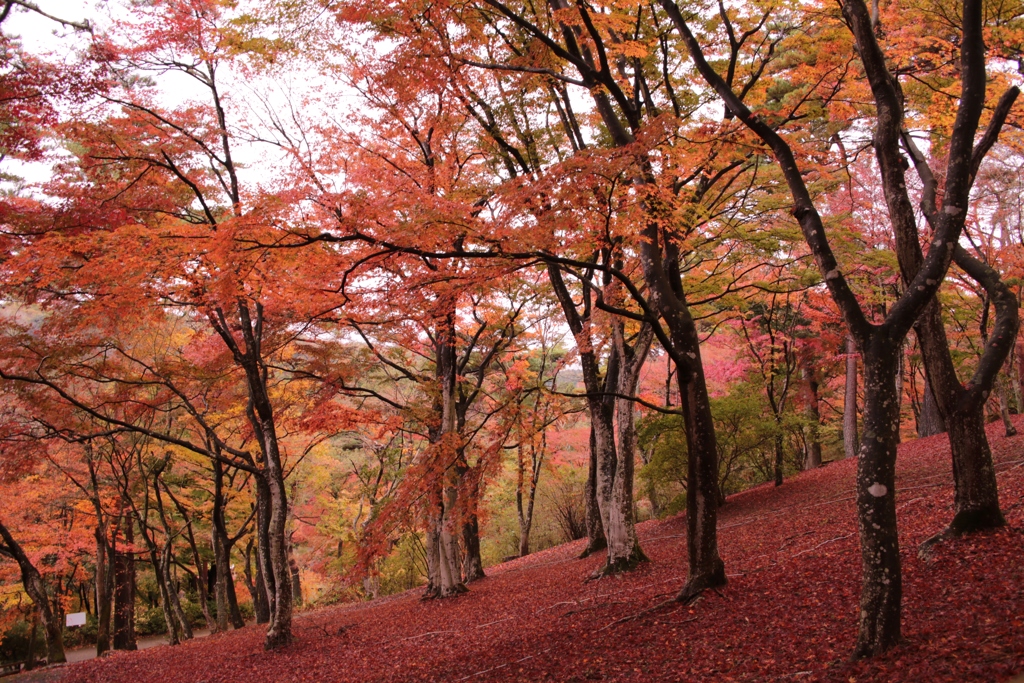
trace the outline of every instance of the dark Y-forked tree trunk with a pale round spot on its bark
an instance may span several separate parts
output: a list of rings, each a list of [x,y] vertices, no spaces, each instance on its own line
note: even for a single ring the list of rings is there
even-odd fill
[[[932,243],[905,293],[881,323],[876,324],[865,315],[836,261],[821,217],[808,193],[791,145],[768,123],[755,116],[715,72],[679,7],[672,0],[660,2],[682,36],[700,75],[724,100],[728,110],[774,155],[793,195],[794,216],[800,222],[821,276],[861,352],[864,362],[865,438],[858,454],[857,508],[863,574],[860,628],[854,654],[867,656],[881,653],[900,639],[902,585],[894,489],[899,425],[895,396],[897,355],[902,352],[904,337],[933,299],[953,259],[970,203],[974,168],[987,152],[984,144],[978,145],[979,156],[975,157],[974,137],[984,104],[986,81],[982,3],[975,0],[964,2],[962,92],[949,139],[945,194],[941,211],[934,214]],[[874,37],[870,12],[863,2],[850,0],[845,3],[843,17],[853,35],[877,108],[873,143],[890,220],[897,234],[901,229],[912,230],[916,234],[900,155],[903,106],[896,82],[886,66],[885,54]],[[1006,100],[1012,103],[1016,95],[1017,89],[1013,88]],[[990,130],[997,132],[1004,118],[1005,114],[996,116]]]

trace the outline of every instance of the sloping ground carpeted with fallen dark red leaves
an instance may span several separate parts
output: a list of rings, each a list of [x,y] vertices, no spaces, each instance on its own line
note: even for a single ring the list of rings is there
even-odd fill
[[[296,642],[262,650],[262,627],[178,647],[68,666],[61,683],[125,681],[1004,681],[1024,672],[1022,435],[989,430],[1000,530],[918,547],[951,517],[944,435],[900,447],[902,645],[850,663],[860,560],[853,460],[732,496],[719,529],[728,586],[694,604],[671,598],[686,575],[685,519],[640,525],[650,562],[586,581],[600,558],[581,542],[490,567],[470,592],[419,591],[311,610]],[[16,679],[15,679],[16,680]]]

